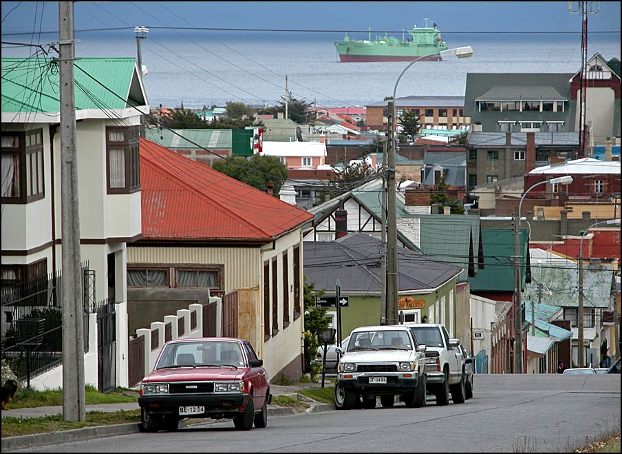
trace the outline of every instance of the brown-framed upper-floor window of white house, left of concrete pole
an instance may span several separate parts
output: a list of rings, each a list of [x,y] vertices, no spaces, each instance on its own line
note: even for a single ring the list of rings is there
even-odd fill
[[[2,203],[28,203],[45,196],[43,130],[2,133]]]

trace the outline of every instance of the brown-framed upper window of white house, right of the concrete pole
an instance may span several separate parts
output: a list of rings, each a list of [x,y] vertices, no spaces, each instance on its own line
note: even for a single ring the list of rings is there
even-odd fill
[[[140,190],[139,126],[107,126],[108,194]]]

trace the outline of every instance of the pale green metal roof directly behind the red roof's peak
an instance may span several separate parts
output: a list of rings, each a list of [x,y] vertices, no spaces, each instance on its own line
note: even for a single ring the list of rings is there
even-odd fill
[[[230,149],[233,146],[232,134],[233,130],[159,130],[157,128],[145,128],[144,130],[146,138],[169,149],[197,149],[197,145],[207,149]]]

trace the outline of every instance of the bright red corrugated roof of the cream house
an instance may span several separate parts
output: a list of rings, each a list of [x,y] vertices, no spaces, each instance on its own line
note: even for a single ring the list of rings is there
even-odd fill
[[[313,214],[140,138],[145,239],[272,240]]]

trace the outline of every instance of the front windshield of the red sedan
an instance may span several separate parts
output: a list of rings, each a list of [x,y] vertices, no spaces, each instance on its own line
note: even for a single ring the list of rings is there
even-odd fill
[[[193,340],[167,344],[156,369],[171,367],[242,367],[240,344],[227,340]]]

